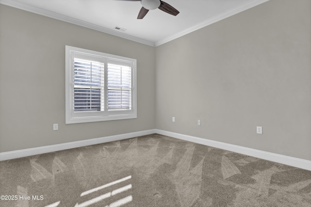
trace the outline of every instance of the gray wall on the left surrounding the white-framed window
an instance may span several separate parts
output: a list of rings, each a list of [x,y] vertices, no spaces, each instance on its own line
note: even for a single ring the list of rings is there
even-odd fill
[[[137,119],[65,124],[65,45],[137,59]],[[154,127],[154,47],[0,4],[0,152]]]

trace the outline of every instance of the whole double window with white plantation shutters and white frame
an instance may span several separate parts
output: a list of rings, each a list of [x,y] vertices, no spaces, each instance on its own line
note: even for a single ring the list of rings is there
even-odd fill
[[[66,46],[66,123],[133,118],[136,60]]]

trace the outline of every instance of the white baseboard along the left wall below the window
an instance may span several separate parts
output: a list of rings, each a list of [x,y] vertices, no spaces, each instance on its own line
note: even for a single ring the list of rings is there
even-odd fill
[[[155,129],[0,153],[0,161],[154,134]]]

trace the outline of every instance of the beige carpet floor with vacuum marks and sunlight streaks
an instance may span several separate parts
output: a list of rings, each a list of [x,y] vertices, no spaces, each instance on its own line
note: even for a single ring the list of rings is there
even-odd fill
[[[0,194],[17,199],[1,207],[311,207],[311,171],[154,134],[1,161]]]

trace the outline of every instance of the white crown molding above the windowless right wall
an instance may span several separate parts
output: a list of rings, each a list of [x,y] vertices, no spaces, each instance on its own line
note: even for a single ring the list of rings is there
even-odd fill
[[[166,38],[163,38],[162,40],[159,40],[159,41],[155,42],[155,47],[157,47],[159,45],[162,45],[164,43],[170,42],[170,41],[172,41],[174,39],[177,39],[178,37],[181,37],[181,36],[187,35],[189,33],[192,33],[192,32],[194,32],[196,30],[199,30],[199,29],[201,29],[203,27],[206,27],[206,26],[208,26],[210,24],[216,23],[216,22],[218,22],[220,20],[223,20],[223,19],[225,19],[227,17],[231,17],[233,15],[236,15],[236,14],[238,14],[240,12],[243,12],[243,11],[245,11],[247,9],[250,9],[250,8],[252,8],[254,6],[257,6],[257,5],[259,5],[261,3],[264,3],[264,2],[267,2],[267,1],[269,1],[269,0],[253,0],[253,1],[248,1],[248,2],[246,2],[244,4],[242,4],[242,5],[234,8],[234,9],[231,9],[229,11],[226,11],[226,12],[222,13],[222,14],[219,14],[217,16],[214,16],[214,17],[211,17],[209,19],[206,19],[206,20],[204,20],[204,21],[202,21],[202,22],[200,22],[200,23],[198,23],[198,24],[196,24],[196,25],[194,25],[194,26],[192,26],[192,27],[190,27],[190,28],[188,28],[188,29],[186,29],[184,31],[181,31],[180,33],[177,33],[177,34],[168,36]]]

